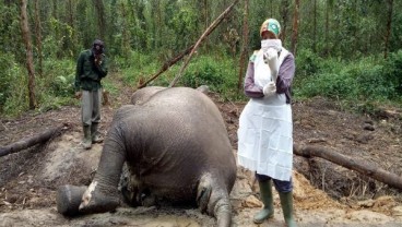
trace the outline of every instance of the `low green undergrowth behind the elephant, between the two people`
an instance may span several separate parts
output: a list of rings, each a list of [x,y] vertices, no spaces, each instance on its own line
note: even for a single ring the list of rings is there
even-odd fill
[[[132,86],[137,86],[141,80],[143,82],[149,80],[162,68],[164,63],[162,61],[165,61],[158,57],[144,56],[134,51],[131,59],[132,63],[122,69],[122,77]],[[208,85],[212,92],[220,93],[224,98],[241,98],[243,93],[237,92],[236,63],[233,58],[225,55],[194,56],[175,86],[197,88],[200,85]],[[180,68],[181,62],[177,62],[147,85],[169,86]]]

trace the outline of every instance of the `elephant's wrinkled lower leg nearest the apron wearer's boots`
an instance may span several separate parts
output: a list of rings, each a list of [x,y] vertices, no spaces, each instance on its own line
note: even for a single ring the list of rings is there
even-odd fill
[[[204,175],[198,186],[197,202],[201,212],[217,219],[218,227],[232,225],[232,205],[226,187],[220,180],[213,179],[210,174]]]

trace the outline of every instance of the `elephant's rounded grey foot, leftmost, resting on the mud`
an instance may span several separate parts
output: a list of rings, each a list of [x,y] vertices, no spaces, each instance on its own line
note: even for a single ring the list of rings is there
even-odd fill
[[[67,216],[79,214],[82,195],[86,187],[62,186],[56,192],[57,211]]]

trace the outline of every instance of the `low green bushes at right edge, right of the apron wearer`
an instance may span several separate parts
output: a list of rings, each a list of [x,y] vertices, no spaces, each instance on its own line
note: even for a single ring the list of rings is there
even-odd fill
[[[329,59],[317,65],[312,75],[300,79],[296,74],[296,98],[333,98],[359,112],[374,112],[378,105],[401,101],[402,51],[390,55],[387,61],[375,58],[354,62]]]

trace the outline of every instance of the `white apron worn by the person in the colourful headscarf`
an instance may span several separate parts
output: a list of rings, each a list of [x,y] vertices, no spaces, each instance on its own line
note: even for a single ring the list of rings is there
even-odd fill
[[[282,49],[277,65],[288,51]],[[271,81],[269,67],[263,63],[262,51],[255,61],[255,82],[263,86]],[[288,181],[293,165],[292,108],[285,94],[251,98],[239,118],[238,164],[273,179]]]

